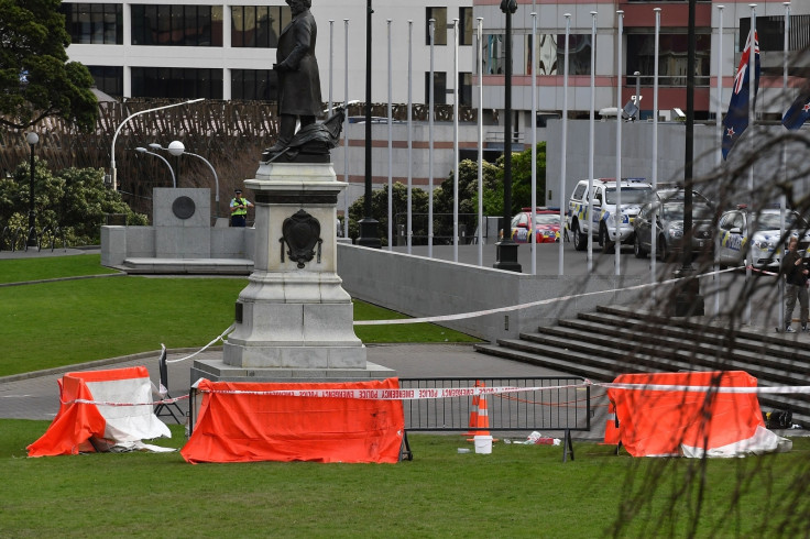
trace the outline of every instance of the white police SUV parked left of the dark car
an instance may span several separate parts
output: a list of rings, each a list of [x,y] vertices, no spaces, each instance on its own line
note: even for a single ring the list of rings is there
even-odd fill
[[[599,241],[602,250],[613,250],[616,241],[633,243],[633,221],[638,215],[641,206],[653,196],[653,186],[644,178],[628,178],[621,180],[622,208],[616,211],[619,193],[616,180],[601,178],[593,180],[592,196],[588,197],[588,180],[583,179],[573,188],[568,200],[566,212],[566,228],[573,237],[573,246],[577,251],[588,248],[588,234]],[[591,223],[588,222],[588,206],[593,200]],[[616,219],[619,219],[619,235],[616,235]]]

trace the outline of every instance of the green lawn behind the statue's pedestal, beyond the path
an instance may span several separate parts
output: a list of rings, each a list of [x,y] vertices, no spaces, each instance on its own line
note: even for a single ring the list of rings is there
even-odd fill
[[[24,271],[3,272],[11,282],[103,273],[94,255],[0,261],[0,267],[10,262],[26,263]],[[3,346],[0,376],[160,350],[161,343],[202,346],[233,322],[234,302],[247,284],[247,278],[131,276],[0,287],[0,342],[18,344]],[[357,319],[402,318],[354,305]],[[477,341],[429,323],[364,326],[355,333],[365,343]]]

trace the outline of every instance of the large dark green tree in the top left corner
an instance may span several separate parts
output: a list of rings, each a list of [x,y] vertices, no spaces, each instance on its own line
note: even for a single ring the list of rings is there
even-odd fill
[[[0,124],[25,130],[61,117],[89,131],[98,101],[90,72],[67,62],[59,0],[0,0]]]

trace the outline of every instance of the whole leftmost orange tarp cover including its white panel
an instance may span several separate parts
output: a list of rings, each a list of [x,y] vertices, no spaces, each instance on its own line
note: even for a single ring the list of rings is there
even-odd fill
[[[29,457],[95,451],[91,439],[114,444],[171,437],[168,428],[153,414],[152,383],[145,366],[73,372],[57,384],[59,410],[47,431],[28,447]],[[77,399],[144,404],[97,406],[75,403]]]

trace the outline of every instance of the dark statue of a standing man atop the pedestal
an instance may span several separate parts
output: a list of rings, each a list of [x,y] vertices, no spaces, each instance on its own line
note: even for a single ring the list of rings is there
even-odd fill
[[[318,26],[309,12],[311,0],[285,0],[293,20],[278,36],[276,64],[278,75],[278,141],[265,152],[278,153],[289,145],[295,135],[296,119],[302,129],[315,123],[324,101],[320,98],[320,75],[315,58]]]

